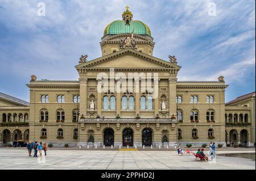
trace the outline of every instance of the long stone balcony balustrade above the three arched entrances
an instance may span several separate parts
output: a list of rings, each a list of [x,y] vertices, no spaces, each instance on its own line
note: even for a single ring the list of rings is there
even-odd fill
[[[171,118],[83,118],[79,123],[177,123],[176,119]]]

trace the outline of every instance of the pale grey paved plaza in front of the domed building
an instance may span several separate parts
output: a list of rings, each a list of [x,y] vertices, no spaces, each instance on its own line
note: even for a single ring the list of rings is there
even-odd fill
[[[255,153],[242,151],[243,153]],[[241,153],[241,151],[217,151]],[[0,170],[5,169],[255,169],[255,161],[247,158],[217,155],[216,163],[195,161],[193,155],[177,155],[168,151],[64,150],[51,149],[45,163],[28,157],[24,148],[0,148]],[[44,161],[43,161],[44,162]]]

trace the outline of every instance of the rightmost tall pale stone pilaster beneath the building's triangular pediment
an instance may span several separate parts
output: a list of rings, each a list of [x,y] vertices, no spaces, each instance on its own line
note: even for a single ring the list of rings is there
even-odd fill
[[[176,74],[169,78],[169,115],[176,115]]]

